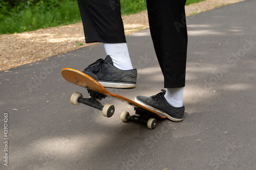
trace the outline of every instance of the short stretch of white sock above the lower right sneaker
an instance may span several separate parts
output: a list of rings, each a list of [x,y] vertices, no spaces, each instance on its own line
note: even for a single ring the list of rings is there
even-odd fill
[[[181,88],[167,88],[164,97],[168,104],[173,107],[183,106],[183,87]]]

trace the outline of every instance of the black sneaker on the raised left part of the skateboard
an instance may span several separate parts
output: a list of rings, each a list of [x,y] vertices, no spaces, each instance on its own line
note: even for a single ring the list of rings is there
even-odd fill
[[[110,88],[135,88],[137,69],[121,70],[113,65],[110,56],[105,60],[98,59],[82,71],[95,79],[103,87]]]

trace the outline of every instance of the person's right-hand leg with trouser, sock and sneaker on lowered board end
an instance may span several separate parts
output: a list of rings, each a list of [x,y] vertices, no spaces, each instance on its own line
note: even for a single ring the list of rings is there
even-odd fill
[[[176,122],[183,120],[184,114],[187,53],[185,3],[185,0],[147,0],[151,36],[167,92],[164,90],[151,97],[137,96],[135,99]]]

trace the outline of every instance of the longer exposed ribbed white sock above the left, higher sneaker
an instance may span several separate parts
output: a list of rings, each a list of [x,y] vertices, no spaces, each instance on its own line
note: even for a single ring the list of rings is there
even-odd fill
[[[127,43],[103,43],[106,55],[113,60],[114,66],[121,70],[133,69]]]

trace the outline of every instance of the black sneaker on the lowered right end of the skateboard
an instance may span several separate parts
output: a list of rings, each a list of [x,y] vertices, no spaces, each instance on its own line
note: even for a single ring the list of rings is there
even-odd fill
[[[180,122],[183,120],[185,107],[175,108],[170,106],[164,98],[165,90],[162,92],[152,95],[150,97],[136,96],[135,102],[150,108],[158,113],[162,113],[170,120],[174,122]]]

